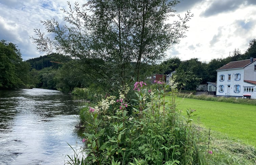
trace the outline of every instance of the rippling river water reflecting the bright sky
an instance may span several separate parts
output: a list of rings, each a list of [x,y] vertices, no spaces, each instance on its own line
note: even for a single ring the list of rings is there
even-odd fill
[[[80,149],[79,102],[47,89],[0,91],[0,165],[63,165]]]

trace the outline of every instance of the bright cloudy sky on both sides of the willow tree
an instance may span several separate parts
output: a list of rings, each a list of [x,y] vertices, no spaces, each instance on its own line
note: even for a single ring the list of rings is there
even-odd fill
[[[62,8],[68,9],[65,0],[0,0],[0,40],[16,44],[23,60],[45,55],[30,37],[36,36],[34,29],[45,31],[40,21],[55,19],[64,24]],[[209,62],[228,57],[235,49],[245,53],[249,41],[256,38],[256,0],[181,0],[175,9],[181,17],[187,10],[193,17],[186,37],[166,51],[167,58]]]

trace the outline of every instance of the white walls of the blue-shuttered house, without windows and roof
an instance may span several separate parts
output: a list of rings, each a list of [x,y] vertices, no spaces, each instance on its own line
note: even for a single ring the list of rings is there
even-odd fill
[[[254,64],[253,64],[254,67]],[[245,67],[246,68],[246,67]],[[250,67],[248,67],[250,68]],[[253,68],[254,70],[254,68]],[[247,72],[246,74],[245,71]],[[244,77],[249,78],[248,75],[252,73],[250,70],[245,70],[244,68],[240,69],[232,69],[232,70],[224,70],[224,71],[217,71],[217,91],[216,91],[216,96],[227,96],[227,97],[243,97],[243,95],[251,95],[251,99],[256,99],[256,86],[243,82]],[[256,72],[253,71],[254,74]],[[240,74],[239,80],[235,80],[235,75]],[[220,75],[224,76],[224,81],[220,81]],[[228,75],[231,76],[230,81],[228,81]],[[251,80],[251,78],[249,79]],[[255,80],[252,80],[255,81]],[[220,92],[220,85],[223,85],[224,90],[223,92]],[[230,85],[230,87],[228,87]],[[239,92],[234,91],[235,90],[235,85],[239,85]],[[253,88],[253,92],[244,92],[244,87],[250,87]]]

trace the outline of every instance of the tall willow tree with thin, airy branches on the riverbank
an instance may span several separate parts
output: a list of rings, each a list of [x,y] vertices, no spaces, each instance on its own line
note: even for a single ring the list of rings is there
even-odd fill
[[[75,3],[66,13],[66,25],[42,21],[47,37],[35,29],[37,49],[63,53],[80,61],[101,60],[87,74],[105,85],[124,85],[142,79],[148,66],[166,56],[165,51],[185,37],[190,12],[176,15],[177,0],[90,0]],[[48,35],[49,36],[49,35]],[[90,65],[87,63],[87,65]]]

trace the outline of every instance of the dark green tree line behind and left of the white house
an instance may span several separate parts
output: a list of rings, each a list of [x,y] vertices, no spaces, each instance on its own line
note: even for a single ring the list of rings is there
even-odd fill
[[[249,41],[249,47],[245,53],[241,53],[239,49],[235,49],[231,56],[226,58],[214,58],[210,62],[199,61],[198,58],[181,61],[179,57],[169,58],[158,66],[158,74],[169,74],[175,72],[175,81],[179,83],[179,87],[185,87],[187,90],[195,90],[199,84],[207,82],[216,82],[216,70],[231,61],[246,60],[256,58],[256,40]]]

